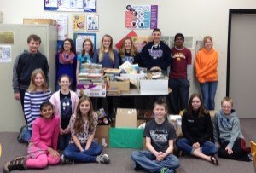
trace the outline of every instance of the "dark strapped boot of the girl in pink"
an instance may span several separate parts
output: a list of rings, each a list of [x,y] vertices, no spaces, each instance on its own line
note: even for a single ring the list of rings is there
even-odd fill
[[[25,158],[12,160],[3,164],[3,173],[9,173],[11,170],[25,170]]]

